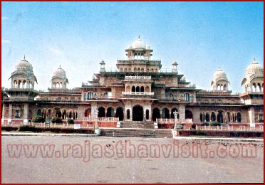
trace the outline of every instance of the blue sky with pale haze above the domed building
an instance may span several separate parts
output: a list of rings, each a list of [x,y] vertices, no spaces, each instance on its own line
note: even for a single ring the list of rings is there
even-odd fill
[[[264,65],[264,2],[1,2],[1,86],[10,88],[16,63],[26,56],[38,80],[51,88],[53,71],[66,71],[68,88],[115,68],[140,38],[197,88],[211,90],[222,68],[233,93],[253,58]]]

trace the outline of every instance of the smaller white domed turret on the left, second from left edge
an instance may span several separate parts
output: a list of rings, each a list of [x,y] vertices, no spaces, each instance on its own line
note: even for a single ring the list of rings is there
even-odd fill
[[[66,78],[66,71],[59,68],[53,71],[53,77],[51,78],[51,88],[63,88],[66,89],[66,83],[68,83],[68,79]]]

